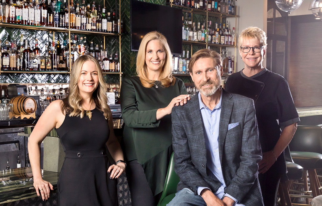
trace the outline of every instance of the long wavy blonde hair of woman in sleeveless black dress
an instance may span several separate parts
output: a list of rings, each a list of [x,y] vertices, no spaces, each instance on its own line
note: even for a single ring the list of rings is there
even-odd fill
[[[106,96],[106,83],[103,78],[101,68],[98,61],[91,55],[83,55],[76,59],[71,70],[71,79],[69,83],[69,95],[63,99],[62,113],[66,111],[69,113],[70,117],[80,116],[84,117],[85,110],[81,107],[83,103],[83,98],[79,94],[78,82],[81,76],[81,68],[86,61],[92,61],[95,63],[97,74],[99,77],[99,85],[93,92],[93,100],[96,104],[96,108],[103,112],[106,119],[109,119],[111,115],[111,110],[107,105]]]

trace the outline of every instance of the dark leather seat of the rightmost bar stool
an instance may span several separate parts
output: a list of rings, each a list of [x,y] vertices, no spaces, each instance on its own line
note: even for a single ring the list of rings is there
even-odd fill
[[[296,164],[306,169],[322,169],[322,154],[320,153],[291,151],[291,156]]]

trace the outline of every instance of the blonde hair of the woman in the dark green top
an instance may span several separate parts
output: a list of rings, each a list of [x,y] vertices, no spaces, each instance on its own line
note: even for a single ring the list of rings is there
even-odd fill
[[[144,87],[150,88],[154,84],[154,80],[149,80],[148,78],[148,71],[147,71],[147,64],[145,62],[145,54],[147,50],[147,44],[151,40],[159,40],[162,44],[165,52],[166,52],[166,58],[165,63],[163,65],[161,74],[160,74],[160,82],[164,87],[169,87],[170,85],[175,84],[175,78],[172,76],[172,54],[170,47],[168,45],[168,42],[166,40],[166,37],[157,32],[149,32],[147,33],[140,44],[139,50],[137,52],[137,76],[140,77],[140,81]]]

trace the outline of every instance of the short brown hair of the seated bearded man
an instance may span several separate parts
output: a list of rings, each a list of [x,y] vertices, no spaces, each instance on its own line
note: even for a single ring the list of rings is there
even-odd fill
[[[193,74],[192,68],[194,67],[194,64],[196,63],[196,61],[200,58],[212,58],[213,65],[216,67],[217,72],[218,71],[220,72],[220,68],[223,66],[223,62],[220,54],[210,49],[200,49],[192,55],[189,61],[189,65],[188,65],[189,73]]]

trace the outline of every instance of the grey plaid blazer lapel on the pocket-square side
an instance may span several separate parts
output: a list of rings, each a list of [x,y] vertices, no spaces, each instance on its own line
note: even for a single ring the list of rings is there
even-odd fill
[[[232,114],[232,106],[234,105],[233,101],[230,100],[231,98],[232,95],[223,90],[223,100],[221,105],[218,137],[220,162],[222,162],[223,159],[223,146],[225,144],[226,134],[228,131],[228,124],[230,121],[230,116]]]

